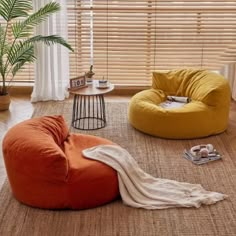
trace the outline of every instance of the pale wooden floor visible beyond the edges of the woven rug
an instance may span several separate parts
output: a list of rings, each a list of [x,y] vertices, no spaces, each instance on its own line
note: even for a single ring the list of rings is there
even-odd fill
[[[2,139],[9,128],[13,125],[31,118],[34,111],[34,103],[30,102],[30,96],[18,95],[11,97],[9,111],[0,111],[0,187],[6,178],[6,171],[2,157]],[[106,96],[106,101],[128,101],[130,96]]]

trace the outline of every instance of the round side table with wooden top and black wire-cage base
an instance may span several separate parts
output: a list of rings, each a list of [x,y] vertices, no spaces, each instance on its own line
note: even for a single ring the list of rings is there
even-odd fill
[[[109,83],[99,88],[98,80],[87,87],[70,91],[74,95],[72,127],[80,130],[95,130],[106,126],[106,109],[104,94],[111,92],[114,85]]]

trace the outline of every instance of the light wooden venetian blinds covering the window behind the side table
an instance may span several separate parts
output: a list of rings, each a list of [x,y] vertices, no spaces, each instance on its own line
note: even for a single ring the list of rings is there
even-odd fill
[[[153,70],[219,70],[236,40],[236,1],[69,0],[71,76],[148,85]]]

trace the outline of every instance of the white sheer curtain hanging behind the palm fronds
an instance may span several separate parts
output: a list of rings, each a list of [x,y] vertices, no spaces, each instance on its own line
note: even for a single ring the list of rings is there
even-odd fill
[[[67,39],[66,0],[56,0],[61,10],[41,23],[36,35],[57,34]],[[34,10],[38,10],[51,0],[33,0]],[[61,45],[46,46],[38,44],[35,63],[35,85],[31,101],[64,100],[68,96],[69,52]]]

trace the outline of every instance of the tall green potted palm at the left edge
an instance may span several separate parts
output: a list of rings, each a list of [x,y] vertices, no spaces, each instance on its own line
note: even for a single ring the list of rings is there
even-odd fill
[[[0,110],[7,110],[10,104],[7,81],[12,81],[26,63],[35,61],[36,43],[61,44],[73,51],[58,35],[33,35],[35,26],[59,11],[60,5],[50,2],[36,12],[32,10],[31,0],[0,0]]]

